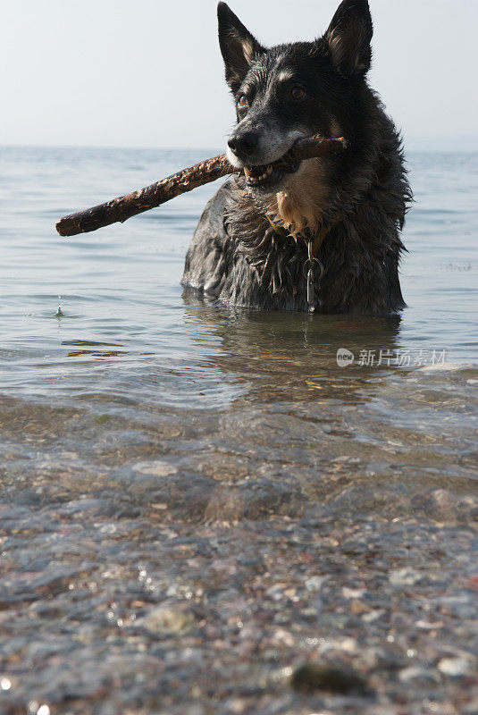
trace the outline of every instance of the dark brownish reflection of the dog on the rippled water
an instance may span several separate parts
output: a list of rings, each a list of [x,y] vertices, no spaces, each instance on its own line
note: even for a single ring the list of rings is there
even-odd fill
[[[342,368],[337,351],[346,348],[358,357],[363,350],[400,349],[401,316],[305,315],[247,311],[208,304],[186,291],[185,317],[189,332],[204,352],[211,334],[219,348],[211,362],[228,379],[250,389],[239,400],[357,403],[376,391],[383,374],[400,372],[393,366]],[[401,371],[403,372],[403,370]]]

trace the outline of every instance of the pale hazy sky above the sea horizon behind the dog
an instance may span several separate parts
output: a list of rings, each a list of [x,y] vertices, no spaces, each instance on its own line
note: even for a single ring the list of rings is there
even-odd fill
[[[231,0],[265,45],[338,0]],[[0,0],[0,144],[222,147],[215,0]],[[478,145],[478,0],[370,0],[371,84],[409,147]],[[474,89],[473,89],[474,88]]]

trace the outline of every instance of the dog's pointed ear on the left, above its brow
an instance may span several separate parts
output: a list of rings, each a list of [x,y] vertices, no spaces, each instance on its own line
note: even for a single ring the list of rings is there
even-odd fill
[[[265,52],[256,38],[244,27],[225,3],[217,5],[219,46],[226,68],[226,81],[232,92],[237,92],[249,67],[258,55]]]

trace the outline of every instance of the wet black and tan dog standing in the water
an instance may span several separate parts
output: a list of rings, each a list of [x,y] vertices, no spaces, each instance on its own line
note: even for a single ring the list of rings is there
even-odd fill
[[[368,2],[343,0],[321,38],[270,49],[225,3],[218,21],[237,112],[227,156],[243,171],[205,206],[183,286],[239,307],[397,313],[412,194],[401,137],[366,80]],[[348,147],[288,162],[316,133]]]

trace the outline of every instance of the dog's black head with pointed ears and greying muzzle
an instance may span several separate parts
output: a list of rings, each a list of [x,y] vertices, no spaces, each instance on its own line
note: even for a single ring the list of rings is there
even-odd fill
[[[373,34],[367,0],[343,0],[323,37],[262,46],[225,3],[218,5],[219,43],[238,123],[228,141],[231,164],[245,168],[256,195],[291,189],[310,172],[282,161],[294,142],[321,133],[347,136],[356,88],[370,68]],[[312,160],[315,168],[320,160]],[[302,184],[305,184],[302,181]]]

